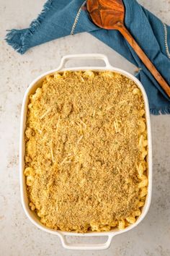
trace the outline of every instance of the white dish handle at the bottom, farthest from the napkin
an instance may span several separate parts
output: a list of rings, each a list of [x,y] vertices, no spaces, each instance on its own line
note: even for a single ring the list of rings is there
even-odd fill
[[[92,236],[95,236],[95,234],[92,234]],[[101,234],[100,236],[108,236],[107,241],[104,242],[103,244],[79,244],[79,243],[71,244],[71,243],[67,242],[66,235],[60,234],[63,247],[66,249],[88,249],[89,250],[89,249],[107,249],[107,248],[109,248],[114,235],[113,234],[109,234],[109,235]]]

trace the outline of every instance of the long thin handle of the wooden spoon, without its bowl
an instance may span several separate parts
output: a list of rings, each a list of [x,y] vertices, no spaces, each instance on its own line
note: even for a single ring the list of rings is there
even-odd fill
[[[136,43],[135,39],[133,36],[129,33],[127,28],[122,24],[119,23],[117,24],[117,30],[120,31],[120,33],[124,36],[126,40],[128,40],[128,43],[130,46],[132,46],[133,50],[135,51],[136,54],[138,54],[138,57],[143,61],[143,63],[146,65],[148,70],[153,74],[153,77],[158,81],[159,85],[161,85],[161,88],[164,89],[167,95],[170,97],[170,87],[168,83],[164,80],[164,78],[161,76],[161,74],[158,72],[156,67],[152,64],[150,59],[146,56],[144,51],[140,48],[138,43]]]

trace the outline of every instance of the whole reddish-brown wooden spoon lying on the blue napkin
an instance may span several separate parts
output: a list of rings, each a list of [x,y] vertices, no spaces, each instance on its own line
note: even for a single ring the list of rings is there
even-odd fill
[[[144,51],[125,27],[125,7],[122,0],[87,0],[86,7],[91,20],[93,20],[97,26],[107,30],[120,31],[151,74],[153,74],[153,77],[155,77],[159,85],[161,85],[161,88],[163,88],[166,94],[170,97],[170,87],[168,83],[164,80],[156,67],[154,67],[150,59],[148,59]]]

